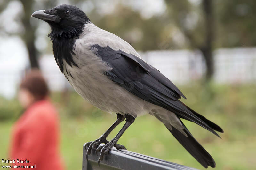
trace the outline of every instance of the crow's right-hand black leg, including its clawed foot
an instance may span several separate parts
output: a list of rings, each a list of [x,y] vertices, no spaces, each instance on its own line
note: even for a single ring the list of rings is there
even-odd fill
[[[100,146],[96,149],[96,154],[97,152],[100,151],[100,158],[98,160],[98,164],[100,166],[100,160],[103,160],[104,157],[104,153],[107,155],[108,151],[116,145],[117,141],[119,140],[119,138],[123,135],[124,131],[134,122],[135,118],[132,115],[125,115],[126,118],[126,122],[124,124],[124,126],[122,127],[122,129],[117,133],[117,135],[108,143],[106,143],[103,146]]]

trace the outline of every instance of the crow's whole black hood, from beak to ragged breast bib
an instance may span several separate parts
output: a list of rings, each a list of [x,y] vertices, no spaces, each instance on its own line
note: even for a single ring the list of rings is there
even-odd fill
[[[54,58],[63,72],[63,60],[68,65],[77,66],[73,61],[73,46],[76,38],[83,32],[84,25],[90,22],[85,13],[72,5],[60,5],[49,10],[39,10],[32,17],[42,19],[51,26],[48,35],[52,40]]]

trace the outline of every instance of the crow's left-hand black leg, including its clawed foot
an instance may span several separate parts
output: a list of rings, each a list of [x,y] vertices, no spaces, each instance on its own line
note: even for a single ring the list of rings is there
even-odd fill
[[[91,150],[92,150],[92,149],[95,149],[95,148],[96,148],[97,146],[99,146],[101,143],[107,144],[108,141],[107,141],[106,137],[108,137],[109,133],[110,133],[113,129],[115,129],[115,127],[116,127],[119,123],[121,123],[122,121],[124,121],[124,119],[125,119],[125,116],[124,116],[124,115],[121,115],[121,114],[119,114],[119,113],[117,113],[116,115],[117,115],[117,120],[116,120],[116,122],[114,122],[114,123],[112,124],[112,126],[111,126],[110,128],[108,128],[108,130],[107,130],[103,135],[101,135],[101,136],[99,137],[99,139],[96,139],[95,141],[87,142],[87,143],[85,144],[85,149],[86,149],[86,147],[88,147],[87,152],[86,152],[86,159],[87,159],[87,160],[88,160],[88,154],[90,155]],[[119,144],[116,144],[115,147],[116,147],[116,148],[126,149],[123,145],[119,145]]]

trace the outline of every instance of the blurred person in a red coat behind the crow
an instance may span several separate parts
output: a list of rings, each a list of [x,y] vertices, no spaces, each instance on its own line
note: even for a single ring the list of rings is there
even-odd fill
[[[59,155],[58,113],[48,94],[39,70],[31,70],[21,81],[18,100],[25,111],[12,127],[10,159],[15,160],[12,166],[64,169]],[[18,163],[17,159],[27,162]]]

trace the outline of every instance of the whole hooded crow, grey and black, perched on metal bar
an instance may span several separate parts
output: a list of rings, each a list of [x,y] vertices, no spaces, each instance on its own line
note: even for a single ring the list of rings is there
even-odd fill
[[[212,156],[180,118],[194,122],[218,137],[214,130],[223,130],[182,103],[179,99],[186,99],[182,92],[146,63],[129,43],[95,26],[76,6],[60,5],[36,11],[32,16],[50,25],[48,36],[52,40],[54,58],[75,91],[95,107],[117,114],[116,122],[102,136],[85,144],[86,157],[97,148],[100,163],[113,146],[125,149],[117,144],[118,139],[138,115],[148,113],[161,121],[202,166],[215,167]],[[107,141],[109,133],[124,119],[122,129]],[[105,145],[99,146],[101,143]]]

